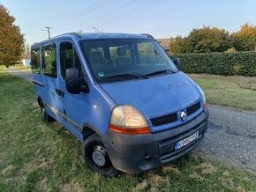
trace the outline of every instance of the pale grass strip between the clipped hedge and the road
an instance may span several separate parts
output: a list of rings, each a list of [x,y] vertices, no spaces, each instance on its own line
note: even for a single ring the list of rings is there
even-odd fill
[[[190,75],[205,91],[207,101],[256,112],[256,77]]]

